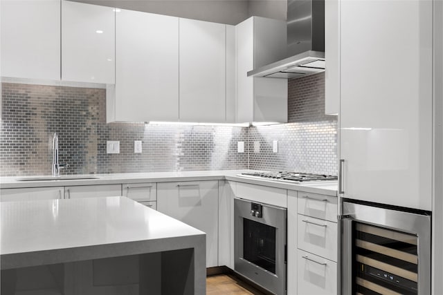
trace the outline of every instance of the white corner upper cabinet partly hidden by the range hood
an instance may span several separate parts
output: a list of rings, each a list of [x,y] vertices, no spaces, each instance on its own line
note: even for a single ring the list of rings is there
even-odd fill
[[[235,26],[237,122],[287,122],[287,79],[248,77],[286,55],[285,21],[251,17]]]

